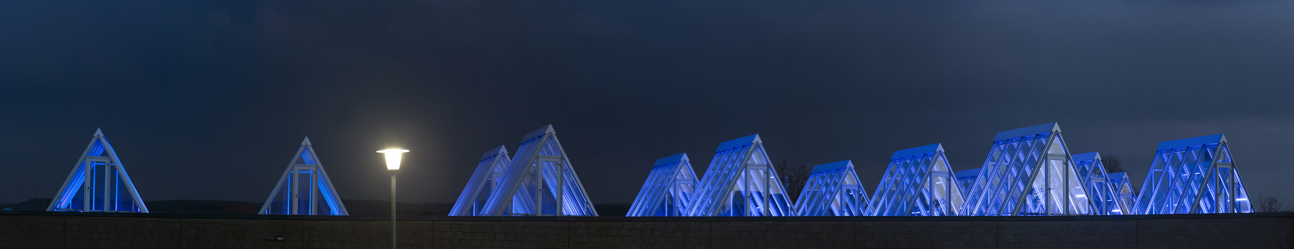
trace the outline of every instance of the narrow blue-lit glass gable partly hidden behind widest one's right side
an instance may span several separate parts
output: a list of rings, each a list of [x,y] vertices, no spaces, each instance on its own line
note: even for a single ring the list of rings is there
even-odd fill
[[[1128,204],[1119,197],[1118,190],[1112,184],[1110,175],[1105,173],[1100,152],[1079,154],[1070,156],[1070,159],[1074,161],[1074,169],[1078,170],[1079,181],[1087,187],[1087,199],[1092,200],[1093,214],[1127,214]]]

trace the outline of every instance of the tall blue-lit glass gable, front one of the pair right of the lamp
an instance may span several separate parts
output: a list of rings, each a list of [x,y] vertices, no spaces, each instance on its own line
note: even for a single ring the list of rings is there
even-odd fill
[[[496,217],[598,215],[553,125],[521,138],[521,146],[483,210],[481,215]]]

